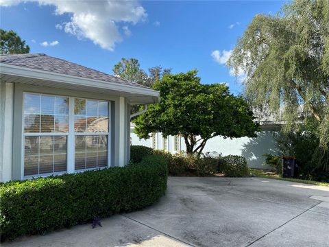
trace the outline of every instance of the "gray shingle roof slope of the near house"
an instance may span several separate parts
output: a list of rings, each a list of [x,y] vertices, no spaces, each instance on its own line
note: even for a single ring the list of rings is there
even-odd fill
[[[27,67],[29,69],[40,69],[42,71],[50,71],[54,73],[62,73],[65,75],[73,75],[81,78],[88,78],[94,80],[101,80],[104,82],[114,82],[129,86],[142,87],[147,89],[136,82],[123,80],[114,75],[108,75],[95,69],[89,69],[74,62],[68,62],[60,58],[53,58],[46,54],[14,54],[14,55],[1,55],[0,62],[5,64],[12,64],[20,67]]]

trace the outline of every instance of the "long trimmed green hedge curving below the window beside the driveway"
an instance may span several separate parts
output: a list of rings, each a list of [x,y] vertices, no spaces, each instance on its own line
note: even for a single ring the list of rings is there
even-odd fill
[[[1,241],[133,211],[156,202],[167,189],[167,161],[141,163],[0,185]]]

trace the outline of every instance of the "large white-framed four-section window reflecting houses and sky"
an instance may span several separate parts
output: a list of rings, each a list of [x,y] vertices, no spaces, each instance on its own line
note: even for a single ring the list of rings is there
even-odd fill
[[[24,93],[24,176],[106,167],[108,140],[109,102]]]

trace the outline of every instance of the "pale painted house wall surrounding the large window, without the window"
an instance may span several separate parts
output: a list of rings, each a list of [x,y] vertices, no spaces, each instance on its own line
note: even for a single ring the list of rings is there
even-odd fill
[[[87,99],[107,100],[110,102],[110,137],[108,141],[110,165],[123,166],[130,160],[130,102],[125,97],[54,89],[46,86],[0,84],[0,181],[20,180],[23,178],[23,93],[66,95]],[[68,143],[72,145],[72,143]],[[69,161],[69,152],[68,152]],[[74,172],[69,169],[67,172]]]

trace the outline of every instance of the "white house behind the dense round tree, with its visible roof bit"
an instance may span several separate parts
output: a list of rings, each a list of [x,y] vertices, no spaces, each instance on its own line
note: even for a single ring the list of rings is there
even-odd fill
[[[258,132],[258,137],[249,138],[233,138],[223,139],[223,137],[214,137],[209,139],[204,147],[203,152],[217,152],[223,156],[241,155],[247,160],[247,164],[252,168],[269,168],[263,165],[265,161],[265,153],[277,154],[278,149],[276,140],[273,136],[280,131],[282,123],[275,121],[272,117],[260,120],[261,132]],[[134,133],[134,124],[130,126],[131,134],[130,141],[132,145],[145,145],[149,148],[164,150],[172,154],[186,151],[184,139],[180,136],[162,137],[160,132],[151,134],[149,139],[139,139]]]

